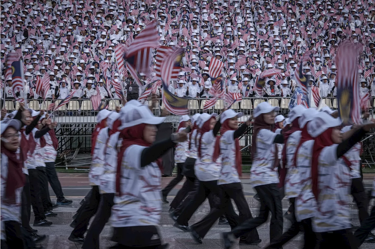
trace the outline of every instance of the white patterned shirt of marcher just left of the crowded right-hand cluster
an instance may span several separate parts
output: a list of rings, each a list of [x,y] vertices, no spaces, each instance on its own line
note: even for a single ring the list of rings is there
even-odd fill
[[[278,168],[274,167],[276,144],[273,144],[276,133],[261,129],[257,135],[257,154],[254,155],[250,173],[252,187],[279,183]]]

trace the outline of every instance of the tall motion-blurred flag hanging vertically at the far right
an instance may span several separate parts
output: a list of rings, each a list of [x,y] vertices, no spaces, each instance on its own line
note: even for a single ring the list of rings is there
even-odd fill
[[[357,51],[350,41],[345,40],[338,48],[337,104],[344,125],[362,123],[358,81]]]

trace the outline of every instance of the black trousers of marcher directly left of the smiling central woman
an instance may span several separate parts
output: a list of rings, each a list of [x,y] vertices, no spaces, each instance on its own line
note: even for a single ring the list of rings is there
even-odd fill
[[[198,181],[198,180],[196,180]],[[222,210],[220,206],[220,189],[217,185],[217,181],[199,181],[198,191],[196,192],[195,196],[193,197],[192,202],[187,205],[183,212],[178,216],[177,223],[178,224],[187,224],[193,213],[198,209],[200,205],[205,201],[206,198],[212,196],[213,202],[210,203],[210,213],[202,219],[202,221],[194,224],[192,227],[193,229],[199,234],[200,237],[204,237],[208,230],[212,227],[213,223],[222,215]],[[232,212],[233,211],[233,212]],[[233,206],[231,209],[225,209],[225,216],[228,219],[229,225],[231,228],[236,227],[236,222],[233,219],[234,213]]]

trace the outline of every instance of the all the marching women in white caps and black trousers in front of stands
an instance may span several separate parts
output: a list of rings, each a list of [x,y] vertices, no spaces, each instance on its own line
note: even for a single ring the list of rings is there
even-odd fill
[[[126,101],[124,101],[126,102]],[[74,216],[69,236],[84,249],[99,249],[99,236],[110,221],[112,248],[166,249],[158,231],[167,194],[183,178],[186,181],[170,204],[172,224],[202,244],[216,224],[229,224],[222,234],[223,247],[258,245],[257,227],[270,220],[270,245],[282,248],[299,232],[304,248],[359,248],[374,243],[375,208],[368,213],[372,194],[365,192],[360,162],[361,139],[375,127],[375,120],[343,126],[338,112],[297,105],[288,117],[276,116],[278,107],[260,103],[253,115],[239,124],[243,113],[184,115],[176,132],[156,140],[165,113],[154,116],[147,105],[136,100],[116,111],[98,112],[92,134],[92,190]],[[251,125],[252,124],[252,125]],[[18,111],[1,111],[0,122],[0,243],[1,248],[42,248],[37,242],[38,226],[50,226],[52,211],[48,182],[58,205],[64,198],[54,161],[56,123],[45,111],[36,112],[21,104]],[[253,217],[243,194],[239,138],[251,126],[252,167],[250,184],[260,202]],[[162,156],[174,149],[177,177],[161,187]],[[359,209],[360,227],[351,225],[352,198]],[[284,214],[282,199],[290,201]],[[189,220],[209,200],[210,212],[195,224]],[[233,199],[233,203],[232,200]],[[233,205],[237,206],[238,214]],[[34,222],[30,227],[30,208]],[[89,225],[92,216],[95,218]],[[284,218],[291,227],[283,233]],[[87,232],[86,236],[84,234]]]

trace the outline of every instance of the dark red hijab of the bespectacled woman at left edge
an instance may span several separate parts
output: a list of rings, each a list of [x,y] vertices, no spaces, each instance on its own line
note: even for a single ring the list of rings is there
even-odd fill
[[[0,152],[8,158],[8,175],[6,181],[5,197],[8,204],[16,204],[15,190],[25,185],[25,176],[22,172],[22,164],[17,159],[16,151],[10,151],[5,148],[4,143],[0,142]]]

